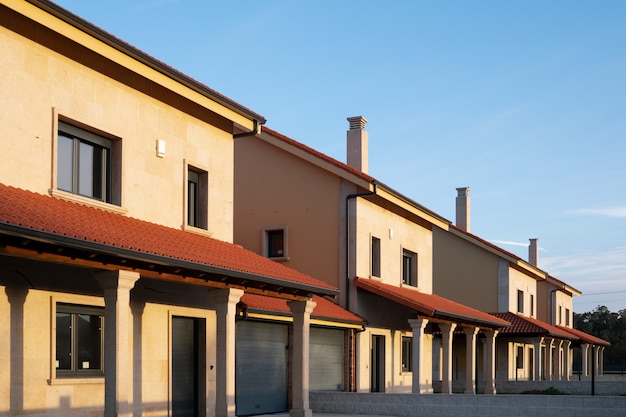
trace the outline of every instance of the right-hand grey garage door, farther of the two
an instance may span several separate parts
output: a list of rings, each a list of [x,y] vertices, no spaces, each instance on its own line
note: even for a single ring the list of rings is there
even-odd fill
[[[344,331],[311,328],[310,371],[311,391],[343,390]]]

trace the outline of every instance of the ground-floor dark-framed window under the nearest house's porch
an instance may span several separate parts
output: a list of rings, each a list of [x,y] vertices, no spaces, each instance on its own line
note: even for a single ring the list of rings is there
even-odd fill
[[[57,304],[56,370],[62,376],[104,373],[104,309]]]

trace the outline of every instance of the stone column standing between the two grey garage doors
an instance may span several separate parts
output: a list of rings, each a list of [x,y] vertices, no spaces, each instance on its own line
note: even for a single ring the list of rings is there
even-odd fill
[[[312,300],[289,301],[293,314],[293,353],[291,366],[290,417],[312,417],[309,406],[309,335],[311,312],[316,303]]]

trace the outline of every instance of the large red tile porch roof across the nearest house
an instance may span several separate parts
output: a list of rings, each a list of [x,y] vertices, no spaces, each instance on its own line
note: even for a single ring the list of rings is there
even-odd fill
[[[210,266],[226,276],[236,272],[251,280],[269,278],[316,293],[338,292],[239,245],[0,184],[0,234],[8,233],[10,226],[28,236],[43,232],[51,239],[70,238],[78,245],[121,249],[139,258],[148,254],[164,262]]]

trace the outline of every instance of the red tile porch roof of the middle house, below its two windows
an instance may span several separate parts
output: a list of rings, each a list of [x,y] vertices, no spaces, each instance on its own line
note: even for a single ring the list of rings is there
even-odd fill
[[[484,313],[435,294],[425,294],[417,289],[396,287],[364,278],[355,278],[354,283],[358,288],[402,304],[425,316],[445,318],[458,322],[476,323],[488,327],[506,327],[509,325],[508,321],[494,317],[491,314]]]

